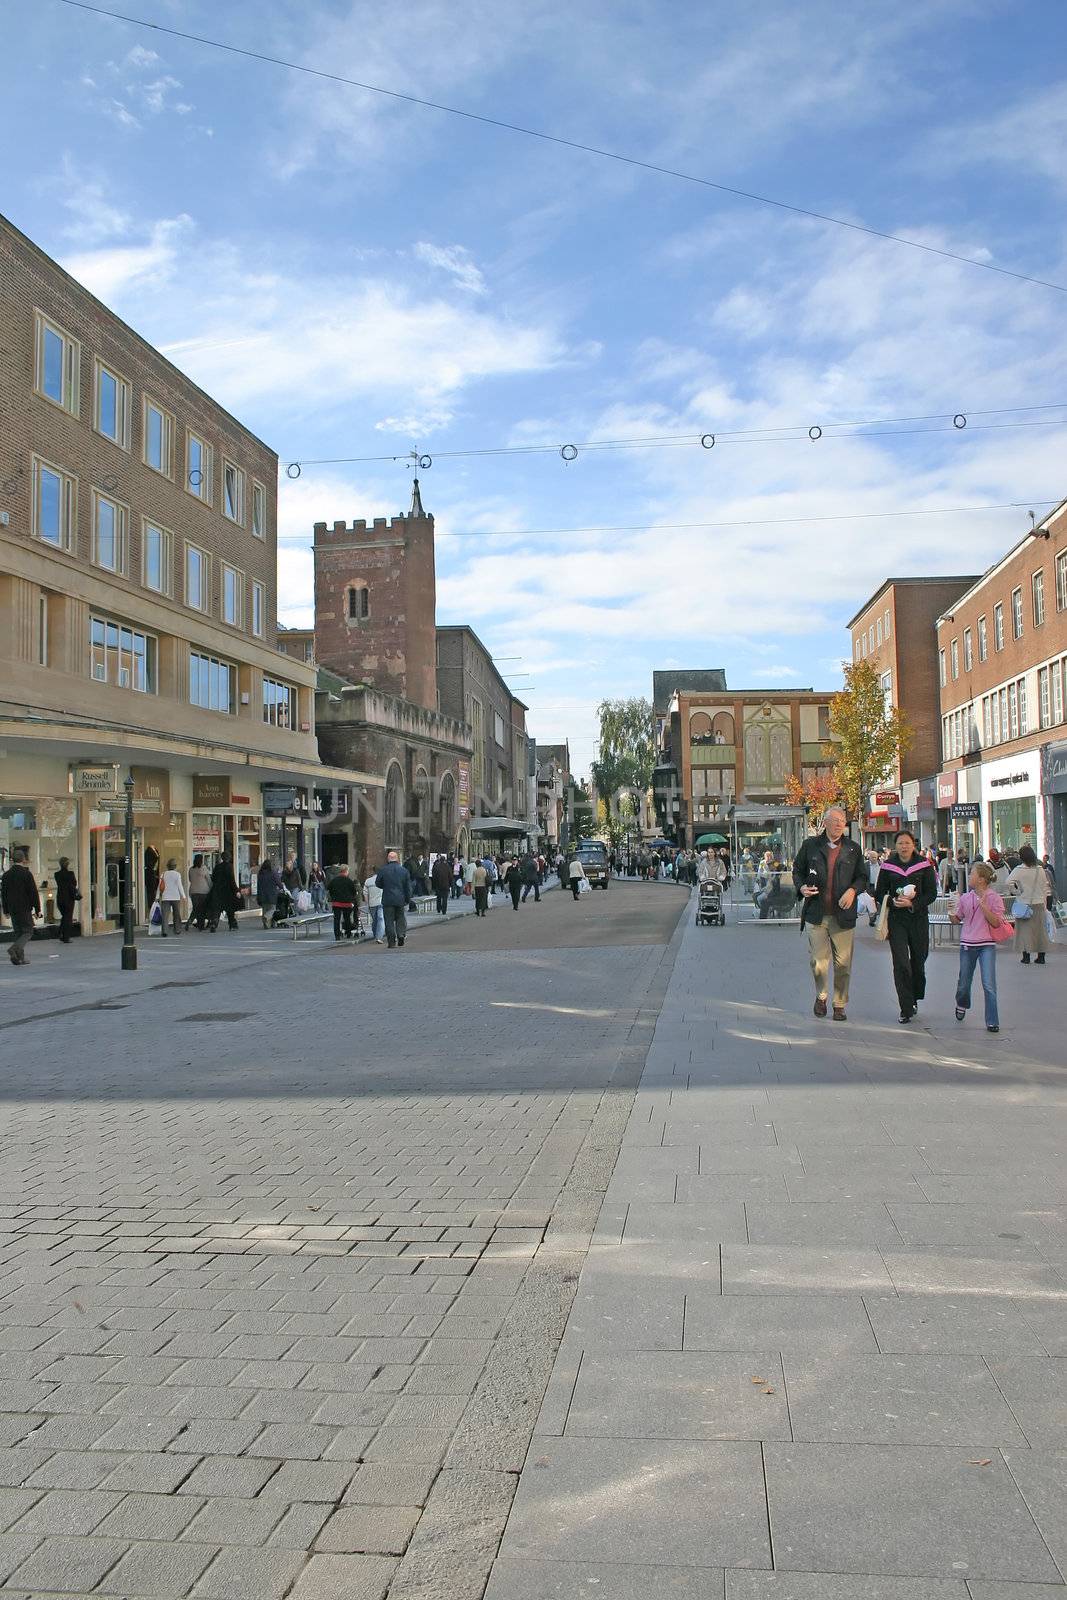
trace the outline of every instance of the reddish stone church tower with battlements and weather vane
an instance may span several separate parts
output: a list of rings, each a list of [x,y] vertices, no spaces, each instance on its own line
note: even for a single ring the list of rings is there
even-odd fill
[[[315,658],[437,710],[434,517],[419,480],[406,517],[315,523]]]

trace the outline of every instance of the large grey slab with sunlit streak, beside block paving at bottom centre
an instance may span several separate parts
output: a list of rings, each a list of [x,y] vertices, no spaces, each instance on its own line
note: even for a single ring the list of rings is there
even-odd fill
[[[760,1446],[547,1438],[501,1554],[622,1565],[768,1566]]]

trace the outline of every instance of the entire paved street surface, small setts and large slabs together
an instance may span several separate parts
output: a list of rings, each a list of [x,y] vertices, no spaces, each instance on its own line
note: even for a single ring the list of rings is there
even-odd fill
[[[693,910],[0,971],[0,1594],[1067,1600],[1061,950]]]

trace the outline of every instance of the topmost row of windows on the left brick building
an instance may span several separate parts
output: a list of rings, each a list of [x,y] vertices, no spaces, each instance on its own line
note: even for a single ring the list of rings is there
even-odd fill
[[[82,346],[54,322],[37,312],[37,362],[35,389],[45,400],[82,414]],[[133,386],[122,373],[114,371],[99,357],[93,362],[93,427],[118,450],[130,451],[133,443]],[[178,456],[178,427],[171,411],[150,395],[141,402],[141,459],[160,477],[174,478]],[[186,429],[184,461],[181,477],[186,490],[206,506],[214,506],[214,450]],[[235,461],[222,456],[221,504],[222,515],[248,526],[256,539],[267,536],[267,490],[253,478],[251,496],[248,477]]]

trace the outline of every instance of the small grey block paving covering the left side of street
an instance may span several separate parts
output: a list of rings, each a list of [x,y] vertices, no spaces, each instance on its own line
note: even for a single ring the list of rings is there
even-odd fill
[[[681,907],[587,899],[2,974],[0,1592],[478,1600]]]

